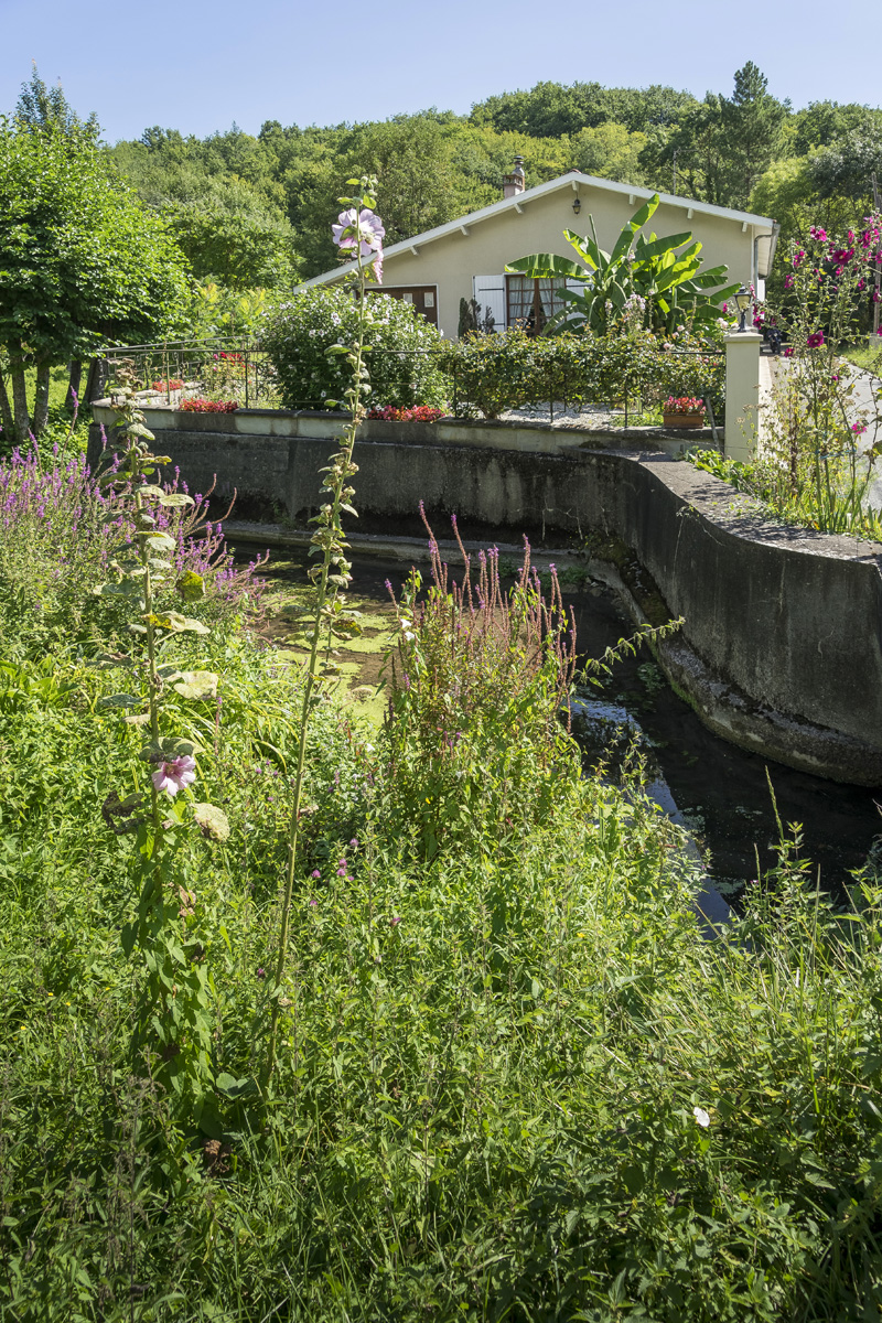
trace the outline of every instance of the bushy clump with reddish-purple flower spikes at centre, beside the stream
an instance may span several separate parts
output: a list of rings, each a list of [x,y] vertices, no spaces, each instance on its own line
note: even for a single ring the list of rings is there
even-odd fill
[[[411,572],[397,603],[387,718],[394,775],[378,802],[383,819],[407,823],[418,856],[431,860],[566,812],[578,767],[559,724],[575,626],[557,574],[546,603],[528,552],[505,593],[499,553],[481,552],[472,576],[460,542],[458,583],[426,528],[431,585],[421,599],[422,579]],[[459,541],[455,517],[454,532]]]

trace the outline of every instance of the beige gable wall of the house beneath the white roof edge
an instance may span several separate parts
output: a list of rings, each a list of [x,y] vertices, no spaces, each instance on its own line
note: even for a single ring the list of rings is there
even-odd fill
[[[459,300],[472,298],[472,277],[500,275],[508,262],[530,253],[557,253],[575,259],[563,230],[587,233],[588,213],[594,216],[600,247],[610,251],[621,226],[643,201],[635,196],[631,202],[627,193],[579,184],[582,210],[575,216],[575,196],[571,188],[555,189],[541,197],[526,193],[518,200],[522,208],[520,213],[510,206],[471,225],[468,217],[464,217],[463,226],[452,234],[422,246],[414,241],[415,255],[413,250],[386,254],[383,284],[436,284],[438,325],[446,336],[454,337],[459,328]],[[689,218],[688,206],[661,202],[643,233],[655,230],[659,235],[666,235],[690,230],[693,238],[703,245],[701,257],[705,267],[725,262],[729,280],[747,283],[754,278],[754,235],[767,234],[768,226],[742,226],[742,221],[701,212]]]

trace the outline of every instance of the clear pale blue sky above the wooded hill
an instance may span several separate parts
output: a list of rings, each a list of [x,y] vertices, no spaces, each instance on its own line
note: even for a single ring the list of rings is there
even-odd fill
[[[752,60],[770,91],[882,103],[879,0],[0,0],[0,112],[36,60],[94,110],[104,136],[149,124],[257,134],[264,119],[331,124],[438,106],[468,111],[540,79],[731,91]]]

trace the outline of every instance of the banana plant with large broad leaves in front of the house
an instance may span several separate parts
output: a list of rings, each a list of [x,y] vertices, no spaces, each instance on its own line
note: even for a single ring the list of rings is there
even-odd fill
[[[545,335],[565,325],[569,331],[607,335],[621,320],[625,304],[635,295],[644,300],[647,324],[656,329],[670,327],[678,315],[692,321],[721,316],[719,304],[738,288],[738,284],[723,287],[729,267],[723,263],[702,271],[702,245],[693,239],[689,230],[662,238],[653,233],[647,238],[639,233],[652,220],[659,201],[659,194],[653,193],[633,213],[612,253],[598,243],[592,216],[588,216],[590,234],[581,237],[565,230],[567,243],[584,265],[557,253],[533,253],[509,262],[505,267],[509,273],[567,282],[558,291],[566,307],[549,319]],[[706,290],[713,294],[706,294]]]

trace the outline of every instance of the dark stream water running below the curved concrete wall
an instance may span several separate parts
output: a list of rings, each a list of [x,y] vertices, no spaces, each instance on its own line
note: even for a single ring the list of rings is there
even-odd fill
[[[243,557],[246,548],[242,548]],[[284,558],[278,578],[300,581],[307,565],[305,550],[291,548],[272,554]],[[250,558],[250,557],[249,557]],[[421,566],[423,576],[427,566]],[[364,607],[387,607],[389,579],[398,593],[409,564],[353,552],[354,578],[350,598]],[[635,626],[606,585],[588,581],[565,590],[573,607],[577,640],[582,658],[599,658],[621,638],[631,638]],[[778,843],[775,812],[768,778],[782,822],[803,826],[801,856],[820,869],[820,885],[837,900],[845,898],[852,869],[860,868],[875,836],[882,836],[882,787],[845,786],[783,763],[748,753],[707,730],[693,709],[680,699],[648,648],[625,658],[612,668],[603,688],[579,688],[577,700],[611,708],[607,729],[614,732],[616,710],[627,709],[641,732],[641,750],[648,758],[651,779],[666,785],[678,810],[678,820],[697,843],[709,880],[730,902],[747,880],[756,877],[756,861],[764,871],[774,867]],[[578,704],[577,704],[578,705]],[[596,732],[596,724],[588,724]],[[583,721],[574,721],[574,734],[583,747],[586,770],[602,750]],[[621,741],[620,741],[621,742]],[[615,767],[615,754],[611,758]],[[653,766],[655,763],[655,766]]]

